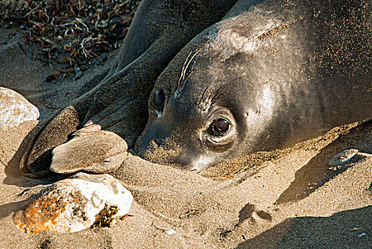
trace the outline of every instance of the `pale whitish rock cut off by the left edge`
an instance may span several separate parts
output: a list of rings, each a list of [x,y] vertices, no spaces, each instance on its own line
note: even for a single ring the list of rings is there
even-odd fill
[[[8,88],[0,88],[0,127],[19,126],[28,120],[37,120],[38,108],[32,105],[18,92]]]

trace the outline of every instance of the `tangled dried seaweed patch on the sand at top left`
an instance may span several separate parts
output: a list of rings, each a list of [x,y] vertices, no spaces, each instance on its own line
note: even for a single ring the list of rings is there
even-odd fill
[[[38,59],[60,64],[46,79],[51,81],[81,75],[92,58],[119,48],[139,2],[5,0],[0,1],[0,26],[24,31],[24,43],[39,45]]]

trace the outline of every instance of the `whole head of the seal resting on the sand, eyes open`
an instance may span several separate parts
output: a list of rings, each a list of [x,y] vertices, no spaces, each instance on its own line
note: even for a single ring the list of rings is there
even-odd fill
[[[242,36],[221,29],[202,33],[204,40],[192,41],[158,78],[135,146],[140,157],[200,170],[261,149],[272,89],[250,84],[262,75],[249,71],[254,42],[242,46]]]

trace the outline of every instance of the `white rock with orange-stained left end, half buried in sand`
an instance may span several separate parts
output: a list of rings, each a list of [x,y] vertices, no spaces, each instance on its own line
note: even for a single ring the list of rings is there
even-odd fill
[[[133,196],[108,174],[78,173],[48,186],[43,194],[14,214],[14,223],[26,233],[73,233],[110,226],[113,218],[130,210]]]

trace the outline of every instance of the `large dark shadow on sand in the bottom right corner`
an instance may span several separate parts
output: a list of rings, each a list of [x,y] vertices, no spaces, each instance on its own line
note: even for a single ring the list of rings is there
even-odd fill
[[[237,248],[371,248],[372,206],[329,217],[287,218]]]

